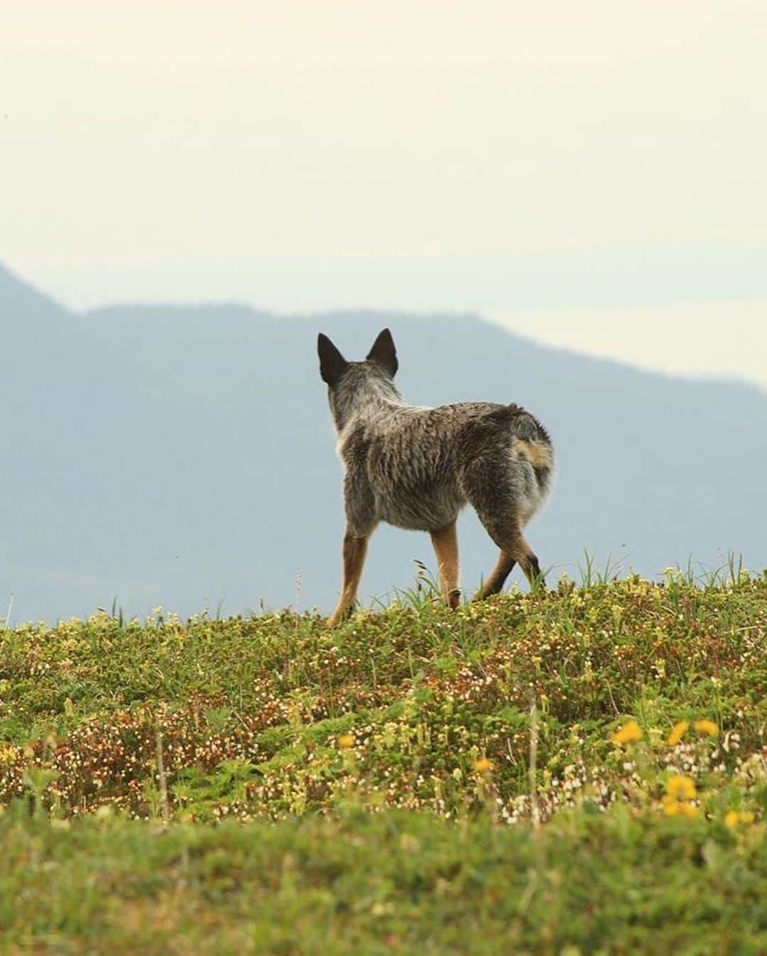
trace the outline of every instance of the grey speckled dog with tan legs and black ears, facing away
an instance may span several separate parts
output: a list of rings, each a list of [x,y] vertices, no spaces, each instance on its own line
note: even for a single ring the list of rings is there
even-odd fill
[[[531,584],[542,581],[522,529],[551,484],[554,455],[543,425],[514,404],[407,404],[394,384],[397,352],[388,329],[364,361],[346,361],[321,334],[318,353],[346,471],[343,587],[330,623],[354,608],[367,540],[380,521],[430,533],[443,596],[456,607],[455,520],[467,503],[500,548],[476,597],[500,591],[517,562]]]

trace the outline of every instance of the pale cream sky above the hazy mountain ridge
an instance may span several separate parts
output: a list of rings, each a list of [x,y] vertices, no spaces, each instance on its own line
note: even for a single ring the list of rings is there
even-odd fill
[[[66,305],[471,311],[765,385],[762,0],[0,4],[0,260]]]

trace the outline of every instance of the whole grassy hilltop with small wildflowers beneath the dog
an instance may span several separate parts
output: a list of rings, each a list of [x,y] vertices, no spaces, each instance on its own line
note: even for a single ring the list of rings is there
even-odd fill
[[[767,951],[767,575],[0,631],[0,941]]]

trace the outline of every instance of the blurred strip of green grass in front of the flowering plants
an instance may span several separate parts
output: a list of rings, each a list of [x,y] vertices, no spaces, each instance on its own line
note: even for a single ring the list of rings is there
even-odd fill
[[[767,942],[756,833],[625,806],[537,834],[404,811],[61,829],[15,808],[0,837],[0,926],[18,951],[756,956]]]

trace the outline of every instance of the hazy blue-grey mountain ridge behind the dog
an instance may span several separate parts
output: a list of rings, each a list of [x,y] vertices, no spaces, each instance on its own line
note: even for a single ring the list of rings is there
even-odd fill
[[[730,550],[767,565],[767,396],[746,385],[586,359],[472,315],[76,315],[2,267],[0,322],[0,615],[11,592],[14,619],[82,616],[115,597],[141,616],[158,604],[234,614],[259,598],[329,610],[340,463],[316,337],[359,359],[384,325],[407,400],[519,402],[551,431],[559,478],[528,536],[552,578],[578,576],[583,549],[648,576]],[[471,511],[460,543],[471,592],[495,558]],[[433,568],[426,534],[378,530],[362,594],[412,586],[414,558]]]

